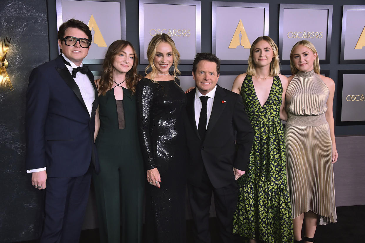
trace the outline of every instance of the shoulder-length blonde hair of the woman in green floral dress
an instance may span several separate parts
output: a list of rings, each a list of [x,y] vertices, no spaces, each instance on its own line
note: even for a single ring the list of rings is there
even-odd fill
[[[266,41],[271,46],[271,49],[273,50],[273,60],[270,63],[270,73],[269,76],[277,76],[280,74],[280,59],[279,59],[279,52],[277,49],[277,45],[273,41],[272,38],[268,37],[267,35],[258,37],[251,45],[250,48],[250,56],[248,60],[248,67],[247,67],[247,74],[250,76],[256,75],[256,64],[253,61],[253,51],[255,49],[255,46],[259,41]]]

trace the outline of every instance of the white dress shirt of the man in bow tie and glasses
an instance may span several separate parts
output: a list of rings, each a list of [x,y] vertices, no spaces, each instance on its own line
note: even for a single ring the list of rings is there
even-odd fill
[[[72,75],[72,69],[77,67],[72,61],[70,61],[63,53],[62,56],[66,61],[68,61],[71,64],[71,67],[66,65],[67,69],[70,71],[70,74]],[[82,67],[82,63],[80,65]],[[95,101],[95,91],[94,87],[92,86],[92,83],[86,74],[82,74],[81,72],[76,73],[76,78],[74,78],[78,88],[80,89],[80,93],[82,96],[82,99],[85,102],[86,108],[88,109],[89,116],[91,116],[91,110],[92,110],[92,103]],[[201,105],[200,105],[201,106]],[[32,172],[39,172],[39,171],[45,171],[46,167],[39,168],[39,169],[28,169],[27,173]]]

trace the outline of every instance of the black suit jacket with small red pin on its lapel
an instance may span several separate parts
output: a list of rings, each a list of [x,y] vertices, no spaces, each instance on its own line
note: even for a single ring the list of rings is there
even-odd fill
[[[242,97],[217,85],[204,141],[196,127],[194,98],[195,90],[187,94],[185,119],[188,182],[199,186],[204,166],[215,188],[227,186],[235,180],[233,167],[242,171],[247,169],[253,143],[253,128]]]

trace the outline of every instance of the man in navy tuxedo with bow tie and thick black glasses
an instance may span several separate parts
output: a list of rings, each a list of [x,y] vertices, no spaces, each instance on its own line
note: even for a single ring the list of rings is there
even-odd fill
[[[99,171],[94,144],[98,93],[82,60],[92,35],[83,22],[59,27],[61,55],[35,68],[26,93],[26,169],[45,189],[41,243],[78,242],[91,183]],[[46,187],[47,185],[47,187]]]

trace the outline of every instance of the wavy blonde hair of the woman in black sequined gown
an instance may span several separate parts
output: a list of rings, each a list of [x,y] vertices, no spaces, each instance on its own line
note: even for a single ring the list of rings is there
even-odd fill
[[[158,73],[157,71],[157,67],[155,66],[153,59],[156,55],[156,48],[159,44],[161,44],[162,42],[166,42],[168,44],[170,44],[171,48],[172,48],[172,56],[173,56],[173,63],[175,65],[174,67],[174,71],[173,71],[173,76],[174,79],[178,79],[177,75],[180,75],[180,71],[177,68],[178,62],[180,61],[180,53],[177,51],[176,46],[175,46],[175,42],[172,40],[171,37],[169,37],[168,34],[162,33],[162,34],[158,34],[155,35],[152,40],[150,41],[150,43],[148,44],[148,48],[147,48],[147,59],[148,59],[148,66],[145,69],[145,74],[147,75],[147,71],[151,68],[151,80],[154,83],[157,83],[157,81],[154,80],[154,77],[156,76],[156,74]]]

